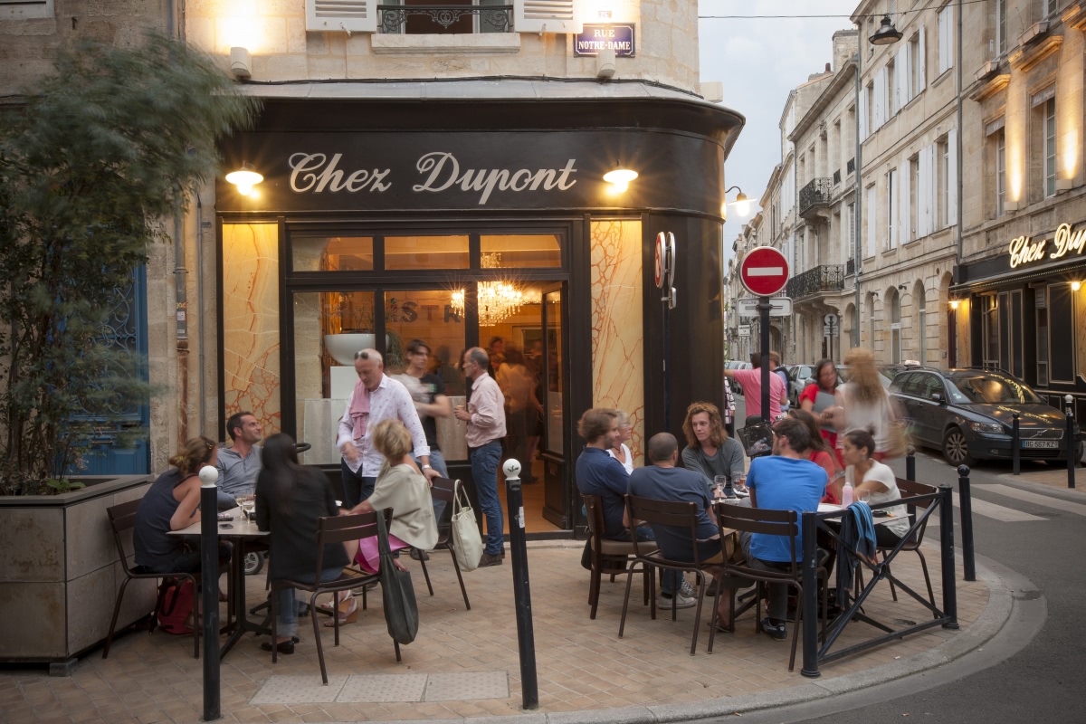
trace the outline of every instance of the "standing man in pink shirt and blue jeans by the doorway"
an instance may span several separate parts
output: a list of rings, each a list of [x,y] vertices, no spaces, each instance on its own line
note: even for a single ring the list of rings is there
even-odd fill
[[[464,353],[460,369],[469,380],[471,402],[457,405],[453,410],[456,419],[467,422],[465,437],[471,478],[479,507],[487,517],[487,547],[479,559],[480,568],[501,566],[505,555],[502,503],[497,498],[497,466],[502,461],[502,439],[505,437],[505,397],[494,378],[487,373],[489,363],[490,357],[482,347],[471,347]]]

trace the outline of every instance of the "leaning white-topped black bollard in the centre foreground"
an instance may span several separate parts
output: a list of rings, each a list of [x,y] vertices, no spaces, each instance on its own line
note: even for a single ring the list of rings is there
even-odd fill
[[[509,556],[513,558],[513,598],[517,607],[517,648],[520,653],[520,695],[525,709],[540,708],[535,675],[535,634],[532,630],[532,594],[528,584],[528,545],[525,541],[525,501],[520,491],[520,463],[508,459],[505,494],[509,507]]]

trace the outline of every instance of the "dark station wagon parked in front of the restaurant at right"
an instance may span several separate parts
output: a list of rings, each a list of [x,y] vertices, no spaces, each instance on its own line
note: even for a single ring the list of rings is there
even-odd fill
[[[1011,425],[1019,414],[1023,460],[1066,461],[1066,418],[1027,384],[1009,374],[976,369],[913,367],[898,372],[891,396],[913,439],[937,447],[952,466],[1011,458]],[[1073,440],[1081,457],[1078,430]]]

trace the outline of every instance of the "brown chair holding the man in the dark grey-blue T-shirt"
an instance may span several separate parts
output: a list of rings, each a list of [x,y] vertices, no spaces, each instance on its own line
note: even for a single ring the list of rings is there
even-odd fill
[[[626,496],[627,513],[630,520],[643,521],[652,525],[669,525],[675,529],[686,529],[691,542],[691,560],[675,560],[667,558],[656,545],[656,542],[633,541],[633,548],[636,551],[634,562],[630,566],[626,581],[626,598],[622,600],[622,620],[618,626],[618,636],[622,637],[626,627],[626,611],[630,604],[630,583],[633,581],[633,569],[641,564],[647,568],[659,568],[665,571],[678,571],[680,573],[692,572],[697,584],[697,607],[694,611],[694,635],[690,643],[690,655],[697,651],[697,633],[702,625],[702,602],[705,599],[705,569],[706,563],[700,559],[697,539],[697,504],[682,503],[674,500],[654,500],[642,498],[636,495]],[[656,618],[656,585],[655,576],[649,576],[649,615]],[[671,620],[677,617],[677,598],[679,590],[674,592],[671,599]]]

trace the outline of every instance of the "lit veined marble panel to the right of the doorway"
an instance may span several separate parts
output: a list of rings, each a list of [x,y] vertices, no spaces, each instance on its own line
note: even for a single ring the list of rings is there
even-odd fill
[[[592,403],[630,416],[628,445],[640,465],[645,437],[641,221],[593,221],[591,245]]]

